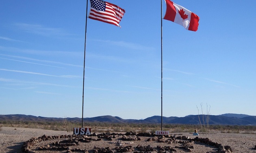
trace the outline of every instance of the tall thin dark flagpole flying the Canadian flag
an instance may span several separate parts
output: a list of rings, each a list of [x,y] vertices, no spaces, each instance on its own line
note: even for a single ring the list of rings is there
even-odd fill
[[[161,0],[161,131],[163,131],[163,19],[162,19],[162,6]]]

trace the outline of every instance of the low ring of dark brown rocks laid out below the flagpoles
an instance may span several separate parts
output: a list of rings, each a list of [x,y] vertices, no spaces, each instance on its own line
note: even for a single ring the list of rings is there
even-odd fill
[[[180,148],[180,149],[184,149],[187,152],[191,152],[194,149],[193,144],[195,142],[197,143],[203,143],[203,144],[207,144],[213,147],[217,148],[217,152],[218,153],[231,153],[232,149],[230,146],[222,146],[221,144],[217,143],[217,142],[212,142],[211,140],[209,140],[208,138],[189,138],[189,136],[171,136],[166,135],[166,136],[159,136],[159,135],[155,135],[155,134],[151,134],[151,133],[137,133],[137,132],[126,132],[125,134],[117,134],[117,133],[102,133],[102,134],[97,134],[97,133],[93,133],[89,136],[85,136],[85,135],[61,135],[61,136],[46,136],[43,135],[39,138],[31,138],[30,140],[24,142],[24,145],[22,147],[22,151],[25,153],[34,153],[31,148],[42,141],[46,141],[46,140],[54,140],[54,139],[62,139],[62,138],[66,138],[64,140],[59,140],[56,142],[53,142],[52,144],[48,144],[44,147],[38,147],[38,150],[41,151],[63,151],[66,150],[67,152],[77,152],[77,151],[81,151],[84,153],[89,153],[89,151],[87,150],[81,150],[81,149],[72,149],[71,146],[76,146],[79,145],[81,142],[85,142],[85,143],[89,143],[91,141],[101,141],[102,139],[104,140],[109,140],[112,141],[113,138],[116,138],[117,136],[121,136],[121,140],[119,140],[118,142],[114,142],[117,143],[117,147],[115,147],[113,150],[115,150],[116,152],[131,152],[134,151],[134,153],[147,153],[150,151],[157,151],[158,153],[163,153],[163,152],[176,152],[175,148]],[[161,147],[160,145],[157,146],[156,148],[151,147],[150,145],[148,146],[140,146],[138,145],[137,147],[133,148],[132,146],[124,146],[123,144],[128,144],[128,143],[124,143],[122,141],[139,141],[141,140],[141,137],[146,136],[149,137],[146,141],[155,141],[155,142],[159,142],[159,143],[168,143],[168,144],[180,144],[179,146],[175,146],[175,148],[172,147]],[[97,138],[93,138],[93,137],[97,137]],[[113,153],[114,151],[111,150],[109,147],[106,148],[98,148],[98,147],[94,147],[93,149],[93,153]]]

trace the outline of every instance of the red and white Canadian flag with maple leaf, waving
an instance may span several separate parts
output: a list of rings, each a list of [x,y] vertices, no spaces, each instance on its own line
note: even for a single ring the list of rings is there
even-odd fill
[[[180,24],[187,30],[197,31],[199,17],[186,8],[165,0],[166,13],[164,19]]]

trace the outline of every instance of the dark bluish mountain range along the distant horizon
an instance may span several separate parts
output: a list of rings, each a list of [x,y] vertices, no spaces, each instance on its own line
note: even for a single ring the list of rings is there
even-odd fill
[[[256,116],[245,114],[222,114],[222,115],[188,115],[185,117],[163,117],[163,123],[168,124],[200,124],[206,123],[206,117],[210,125],[256,125]],[[200,120],[199,120],[200,118]],[[81,122],[82,119],[66,118],[68,121]],[[0,121],[63,121],[63,118],[55,117],[36,117],[32,115],[0,115]],[[161,123],[161,116],[152,116],[146,119],[122,119],[110,115],[84,118],[88,122],[112,122],[112,123]]]

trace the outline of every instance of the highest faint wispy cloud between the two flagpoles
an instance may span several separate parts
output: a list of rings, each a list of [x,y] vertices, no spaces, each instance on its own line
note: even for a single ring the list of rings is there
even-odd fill
[[[146,51],[155,50],[154,47],[143,46],[140,44],[129,43],[129,42],[125,42],[125,41],[111,41],[111,40],[95,40],[95,41],[104,42],[104,43],[108,43],[111,45],[115,45],[115,46],[119,46],[119,47],[126,47],[129,49],[135,49],[135,50],[146,50]]]

